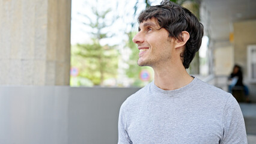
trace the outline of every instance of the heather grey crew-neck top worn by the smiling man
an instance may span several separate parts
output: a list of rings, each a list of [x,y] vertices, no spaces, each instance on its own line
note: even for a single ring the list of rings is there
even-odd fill
[[[247,143],[236,99],[195,79],[165,91],[149,83],[127,98],[118,121],[122,143]]]

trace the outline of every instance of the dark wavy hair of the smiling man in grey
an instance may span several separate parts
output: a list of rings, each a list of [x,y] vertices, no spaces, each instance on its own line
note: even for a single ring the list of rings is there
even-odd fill
[[[193,13],[180,5],[169,0],[163,0],[160,5],[148,7],[139,14],[138,22],[156,18],[160,28],[165,28],[169,32],[169,37],[183,40],[182,31],[189,32],[189,40],[185,44],[183,53],[180,57],[185,68],[195,57],[201,46],[204,35],[204,26],[200,23]]]

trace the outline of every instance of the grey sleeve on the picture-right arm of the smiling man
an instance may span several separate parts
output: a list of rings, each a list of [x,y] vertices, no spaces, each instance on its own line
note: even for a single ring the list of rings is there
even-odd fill
[[[222,124],[224,126],[224,130],[220,143],[247,143],[243,114],[239,104],[231,94],[225,105]]]

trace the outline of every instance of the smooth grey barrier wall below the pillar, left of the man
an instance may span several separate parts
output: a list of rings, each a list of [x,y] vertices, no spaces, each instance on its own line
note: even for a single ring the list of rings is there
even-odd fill
[[[0,143],[117,143],[121,103],[136,91],[0,86]]]

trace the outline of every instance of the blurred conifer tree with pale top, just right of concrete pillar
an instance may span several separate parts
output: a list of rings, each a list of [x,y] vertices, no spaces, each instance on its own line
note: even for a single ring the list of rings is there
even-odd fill
[[[104,80],[117,75],[119,53],[115,46],[100,44],[101,40],[111,37],[109,32],[103,31],[110,25],[106,23],[108,22],[106,15],[111,10],[99,11],[97,8],[92,8],[92,10],[96,20],[86,14],[81,14],[89,20],[89,23],[84,24],[92,28],[92,43],[77,44],[72,47],[75,49],[73,61],[76,67],[79,67],[79,77],[91,80],[93,85],[103,85]]]

